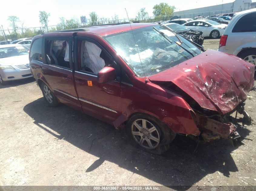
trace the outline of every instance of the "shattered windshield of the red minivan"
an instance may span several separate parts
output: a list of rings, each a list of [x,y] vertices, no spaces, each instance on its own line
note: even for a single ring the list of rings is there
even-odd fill
[[[136,76],[144,77],[164,71],[201,53],[190,41],[178,37],[165,27],[154,25],[103,38]]]

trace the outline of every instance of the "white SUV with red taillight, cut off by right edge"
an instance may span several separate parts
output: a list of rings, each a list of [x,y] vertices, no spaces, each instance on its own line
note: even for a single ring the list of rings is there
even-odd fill
[[[256,8],[241,11],[232,18],[218,50],[256,63]]]

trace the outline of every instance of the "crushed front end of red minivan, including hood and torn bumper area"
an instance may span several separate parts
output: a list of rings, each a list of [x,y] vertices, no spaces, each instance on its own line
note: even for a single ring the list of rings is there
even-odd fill
[[[234,112],[251,121],[244,101],[254,84],[254,65],[236,56],[207,50],[149,79],[177,91],[186,100],[199,130],[194,135],[200,135],[205,142],[240,137],[230,120]]]

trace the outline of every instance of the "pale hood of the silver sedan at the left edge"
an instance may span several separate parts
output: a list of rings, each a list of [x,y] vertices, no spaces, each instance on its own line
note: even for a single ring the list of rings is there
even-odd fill
[[[0,59],[0,65],[2,66],[3,65],[4,66],[22,65],[22,64],[28,64],[28,63],[29,63],[28,54]]]

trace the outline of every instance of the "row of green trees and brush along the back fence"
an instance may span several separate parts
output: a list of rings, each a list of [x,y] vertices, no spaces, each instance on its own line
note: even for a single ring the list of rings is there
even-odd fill
[[[161,20],[164,18],[163,16],[166,16],[165,20],[168,20],[168,15],[172,15],[173,11],[175,10],[174,6],[170,6],[167,3],[160,3],[153,7],[153,19],[152,17],[148,17],[148,12],[145,11],[145,7],[141,8],[134,19],[130,19],[130,21],[142,21],[142,22],[155,22],[158,20]],[[49,27],[49,17],[50,13],[47,13],[45,11],[39,11],[39,22],[42,24],[41,27],[29,29],[24,28],[24,21],[20,21],[20,19],[17,16],[8,16],[8,21],[10,22],[10,27],[12,27],[12,30],[8,29],[8,33],[5,35],[7,39],[18,39],[23,37],[34,37],[38,34],[41,34],[43,32],[52,32],[56,30],[63,30],[63,29],[72,29],[72,28],[80,28],[84,25],[80,23],[80,19],[77,17],[72,17],[70,19],[66,19],[65,17],[59,18],[59,23],[56,27]],[[111,18],[105,18],[101,17],[99,18],[96,12],[90,12],[88,23],[86,26],[96,25],[96,24],[110,24],[110,23],[120,23],[120,22],[128,22],[128,19],[119,19],[118,15],[115,14]],[[5,40],[3,33],[0,34],[0,41]]]

